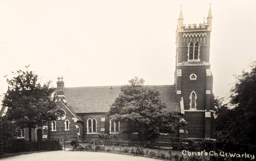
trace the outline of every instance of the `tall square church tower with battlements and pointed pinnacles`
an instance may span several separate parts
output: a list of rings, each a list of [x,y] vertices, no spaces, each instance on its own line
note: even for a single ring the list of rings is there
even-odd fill
[[[185,129],[189,138],[215,138],[213,74],[209,62],[212,18],[210,6],[207,23],[186,26],[182,9],[178,19],[174,84],[183,118],[190,123]]]

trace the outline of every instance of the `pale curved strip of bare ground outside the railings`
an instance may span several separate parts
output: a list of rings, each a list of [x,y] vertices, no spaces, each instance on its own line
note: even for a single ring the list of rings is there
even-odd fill
[[[159,159],[88,151],[52,151],[2,158],[1,161],[160,161]]]

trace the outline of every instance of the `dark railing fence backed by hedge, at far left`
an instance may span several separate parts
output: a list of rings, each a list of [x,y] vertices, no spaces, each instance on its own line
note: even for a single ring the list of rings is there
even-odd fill
[[[59,142],[59,140],[47,140],[38,142],[27,142],[20,140],[13,143],[2,143],[0,145],[0,158],[62,149],[62,144]]]

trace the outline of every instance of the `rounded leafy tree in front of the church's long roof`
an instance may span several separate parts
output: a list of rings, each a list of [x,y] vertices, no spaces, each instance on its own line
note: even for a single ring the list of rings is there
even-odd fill
[[[179,121],[180,116],[166,110],[166,105],[159,99],[159,91],[155,88],[143,87],[145,80],[134,77],[130,85],[121,87],[121,93],[110,106],[110,118],[125,123],[122,132],[138,132],[154,139],[159,132],[174,133],[173,129],[184,127],[188,123]]]

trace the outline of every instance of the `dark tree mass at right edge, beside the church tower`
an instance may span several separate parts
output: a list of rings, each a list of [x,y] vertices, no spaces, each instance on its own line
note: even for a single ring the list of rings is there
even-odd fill
[[[216,138],[234,150],[256,151],[256,62],[236,76],[229,104],[216,104]],[[217,100],[217,102],[221,100]],[[231,146],[232,145],[232,146]]]

